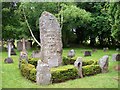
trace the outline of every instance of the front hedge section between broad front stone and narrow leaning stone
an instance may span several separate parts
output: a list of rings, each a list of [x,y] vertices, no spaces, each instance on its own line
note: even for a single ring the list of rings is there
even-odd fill
[[[78,77],[78,71],[73,65],[60,66],[51,69],[52,82],[63,82]]]

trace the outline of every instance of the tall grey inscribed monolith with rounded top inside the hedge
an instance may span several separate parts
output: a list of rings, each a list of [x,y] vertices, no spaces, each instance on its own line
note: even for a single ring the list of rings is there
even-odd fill
[[[61,28],[54,15],[43,12],[40,19],[41,59],[50,67],[62,64]]]

